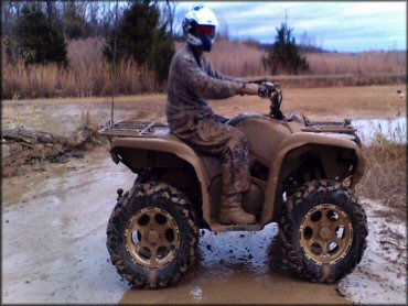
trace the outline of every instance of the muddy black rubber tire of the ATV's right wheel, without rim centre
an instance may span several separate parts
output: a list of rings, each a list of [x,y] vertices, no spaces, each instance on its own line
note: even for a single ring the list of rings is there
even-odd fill
[[[305,233],[302,233],[305,220],[313,216],[310,214],[325,205],[332,205],[336,211],[344,212],[348,218],[344,217],[347,225],[352,227],[347,249],[329,263],[312,259],[310,251],[307,251],[308,247],[303,247],[307,244]],[[314,237],[315,232],[308,231],[308,236]],[[280,221],[280,240],[289,266],[302,278],[319,283],[334,283],[351,273],[362,260],[367,234],[367,217],[353,192],[341,183],[329,179],[310,182],[293,193],[286,203]]]

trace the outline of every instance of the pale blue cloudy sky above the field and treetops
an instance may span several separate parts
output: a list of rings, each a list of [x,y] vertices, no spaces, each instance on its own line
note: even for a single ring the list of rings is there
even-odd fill
[[[407,1],[391,2],[180,2],[179,12],[204,3],[232,37],[272,42],[284,21],[297,42],[305,32],[314,45],[329,51],[362,52],[407,48]]]

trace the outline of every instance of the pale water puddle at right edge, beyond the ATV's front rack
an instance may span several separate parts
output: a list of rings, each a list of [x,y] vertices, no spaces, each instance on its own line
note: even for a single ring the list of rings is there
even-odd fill
[[[376,135],[396,143],[407,142],[407,118],[395,119],[353,119],[352,125],[357,129],[363,143],[371,144]]]

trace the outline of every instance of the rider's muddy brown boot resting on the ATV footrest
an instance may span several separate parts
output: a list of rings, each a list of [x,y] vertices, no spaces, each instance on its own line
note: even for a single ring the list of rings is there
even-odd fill
[[[256,222],[255,216],[245,212],[245,210],[240,207],[241,199],[243,199],[241,193],[221,196],[221,207],[218,215],[221,223],[254,225]]]

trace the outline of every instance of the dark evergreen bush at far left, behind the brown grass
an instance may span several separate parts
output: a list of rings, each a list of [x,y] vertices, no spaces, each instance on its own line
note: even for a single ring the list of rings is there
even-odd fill
[[[41,10],[23,7],[14,31],[18,51],[25,65],[53,62],[66,66],[65,39]]]

